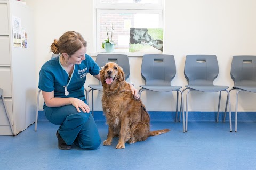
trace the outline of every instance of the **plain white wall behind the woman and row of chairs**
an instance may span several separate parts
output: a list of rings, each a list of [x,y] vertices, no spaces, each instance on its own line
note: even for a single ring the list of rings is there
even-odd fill
[[[93,2],[26,0],[35,10],[36,66],[37,75],[41,66],[51,54],[50,45],[64,32],[75,30],[82,33],[88,42],[87,52],[93,53]],[[233,86],[230,78],[233,55],[256,55],[256,1],[255,0],[166,0],[164,27],[164,53],[173,54],[177,64],[177,75],[172,84],[185,86],[183,75],[187,54],[215,54],[219,62],[219,76],[214,84]],[[94,57],[95,58],[95,57]],[[131,74],[129,82],[139,89],[145,82],[140,75],[142,57],[130,57]],[[38,81],[38,78],[37,80]],[[88,84],[97,83],[90,75]],[[87,89],[89,89],[87,87]],[[95,92],[95,95],[97,93]],[[222,92],[221,111],[226,94]],[[234,110],[234,94],[231,93]],[[149,111],[174,111],[176,94],[143,92],[142,100]],[[189,110],[216,111],[218,94],[191,92]],[[239,111],[255,111],[256,95],[241,94]],[[95,110],[101,111],[100,95],[95,99]],[[171,103],[171,104],[170,104]]]

